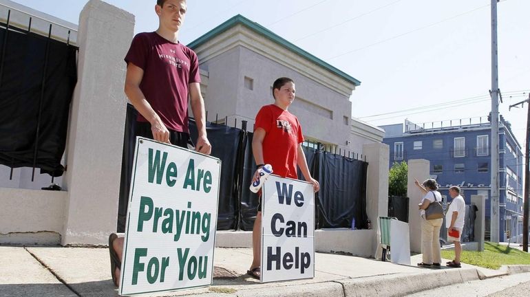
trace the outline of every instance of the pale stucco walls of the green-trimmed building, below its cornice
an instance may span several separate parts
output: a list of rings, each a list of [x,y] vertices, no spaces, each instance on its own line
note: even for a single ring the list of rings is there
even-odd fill
[[[201,68],[207,69],[209,73],[205,100],[209,120],[215,118],[215,113],[219,114],[219,118],[228,116],[229,124],[233,123],[234,117],[238,121],[248,120],[248,129],[252,131],[257,111],[274,102],[271,94],[274,80],[287,76],[295,80],[297,98],[332,113],[332,118],[326,118],[312,113],[304,106],[304,102],[295,100],[289,111],[299,119],[304,135],[339,144],[343,148],[348,145],[344,137],[350,133],[350,124],[344,122],[345,116],[350,118],[351,102],[348,97],[242,46],[201,63]],[[253,79],[252,90],[244,87],[245,77]]]

